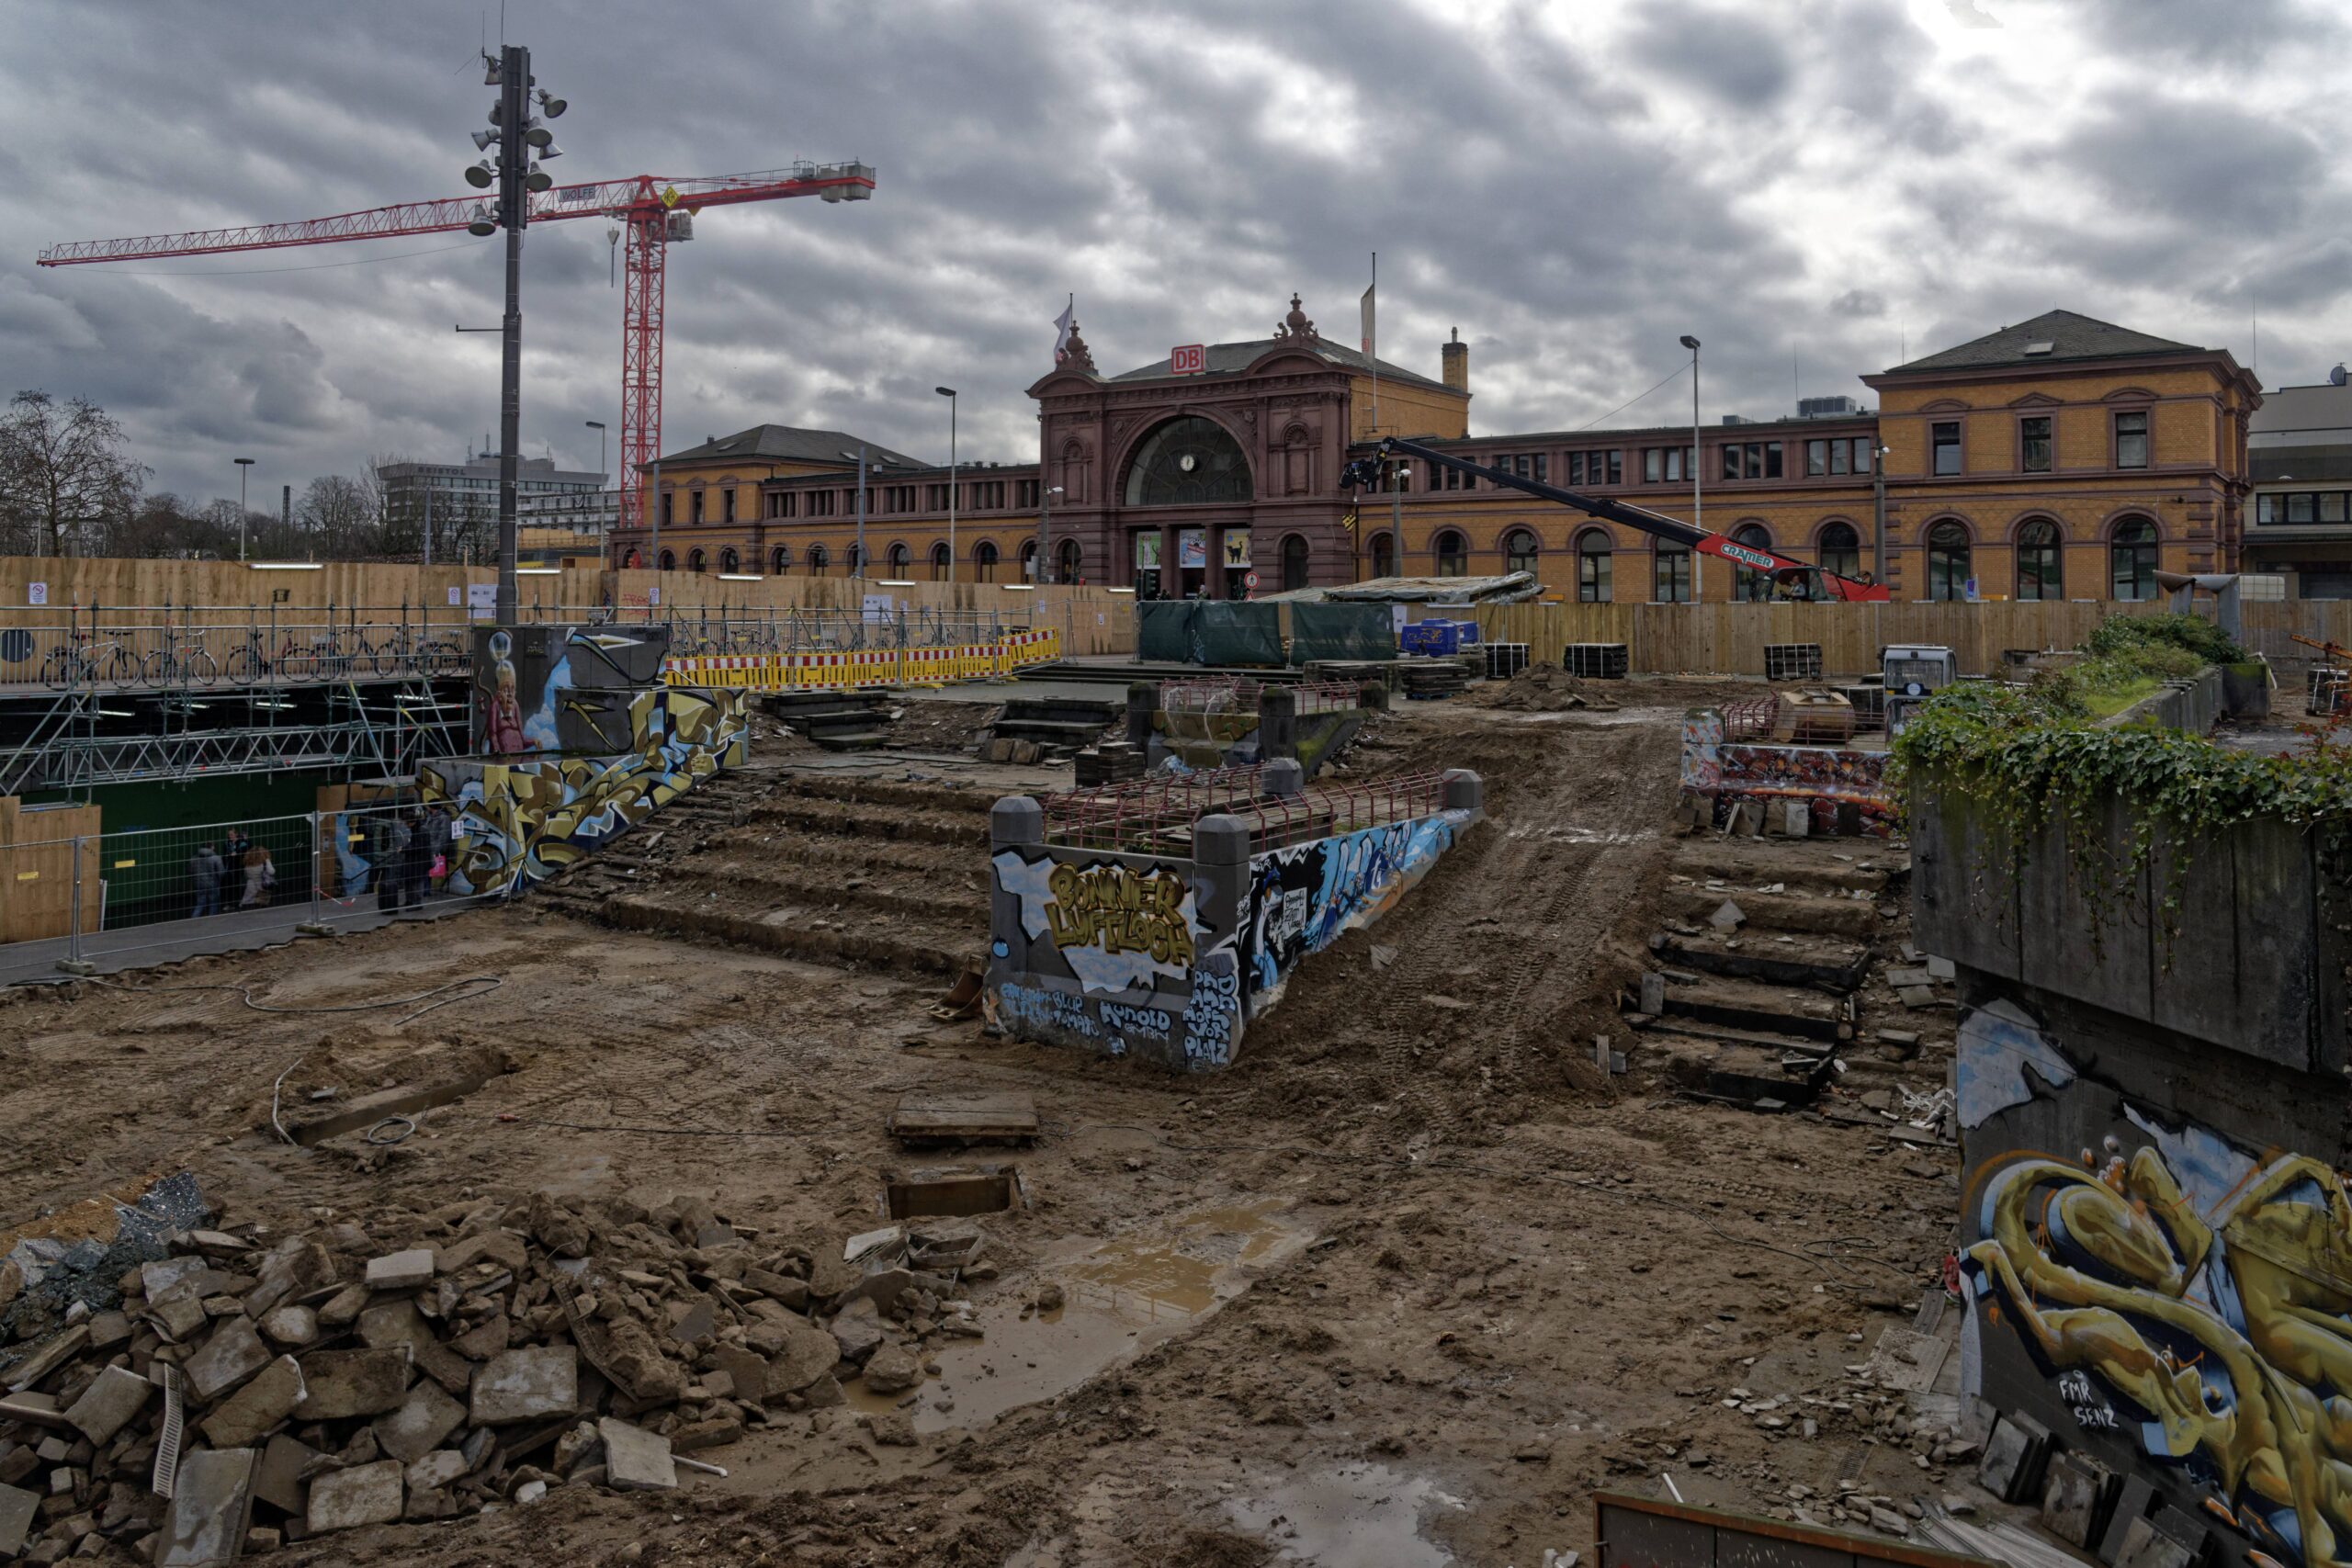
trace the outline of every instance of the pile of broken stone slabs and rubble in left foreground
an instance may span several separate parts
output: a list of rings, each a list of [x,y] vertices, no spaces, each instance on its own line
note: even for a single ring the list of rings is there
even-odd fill
[[[329,1530],[644,1490],[771,1408],[922,1380],[978,1335],[969,1220],[771,1244],[699,1199],[480,1199],[160,1237],[120,1276],[0,1265],[0,1559],[214,1563]],[[54,1246],[54,1244],[49,1244]],[[85,1244],[87,1251],[87,1244]],[[906,1410],[875,1441],[913,1443]]]

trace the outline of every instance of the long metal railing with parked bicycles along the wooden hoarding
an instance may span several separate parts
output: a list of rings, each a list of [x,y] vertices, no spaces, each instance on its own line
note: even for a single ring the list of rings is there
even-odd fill
[[[997,642],[1033,611],[612,609],[524,604],[524,625],[668,625],[675,658]],[[125,691],[454,677],[473,668],[463,607],[0,607],[0,686]]]

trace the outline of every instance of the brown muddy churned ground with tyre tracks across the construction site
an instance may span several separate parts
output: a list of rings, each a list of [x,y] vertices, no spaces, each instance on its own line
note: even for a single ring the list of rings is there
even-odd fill
[[[1938,1274],[1952,1154],[1682,1098],[1618,1020],[1668,865],[1691,851],[1670,811],[1696,696],[1632,682],[1616,712],[1416,703],[1383,719],[1350,771],[1479,769],[1489,820],[1392,919],[1308,964],[1230,1072],[1200,1079],[941,1025],[941,976],[880,936],[856,959],[689,919],[743,922],[767,900],[797,910],[771,931],[903,914],[927,945],[985,936],[969,835],[1016,771],[884,757],[884,780],[948,804],[842,799],[858,790],[837,773],[811,802],[793,771],[807,752],[755,752],[668,844],[600,872],[590,903],[635,898],[644,929],[527,898],[0,994],[0,1232],[188,1168],[228,1220],[275,1227],[546,1187],[696,1192],[762,1237],[842,1237],[880,1222],[887,1171],[1021,1168],[1028,1208],[985,1220],[1002,1267],[974,1288],[988,1335],[913,1396],[917,1446],[873,1443],[863,1413],[887,1401],[851,1385],[847,1408],[774,1410],[703,1453],[724,1481],[557,1488],[266,1561],[1531,1568],[1545,1547],[1590,1549],[1595,1488],[1656,1493],[1661,1472],[1693,1502],[1755,1509],[1839,1479],[1931,1493],[1943,1469],[1877,1441],[1844,1389]],[[496,987],[409,1023],[423,1001],[256,1011],[468,976]],[[1943,1079],[1947,1016],[1910,1023],[1924,1056],[1870,1067],[1842,1103],[1863,1081]],[[1628,1074],[1595,1067],[1597,1032],[1630,1048]],[[266,1133],[280,1074],[306,1103],[485,1058],[506,1072],[390,1154]],[[1035,1095],[1044,1138],[908,1154],[884,1117],[936,1088]],[[1025,1309],[1047,1284],[1068,1305]],[[1733,1408],[1759,1396],[1790,1413],[1818,1399],[1811,1436]]]

